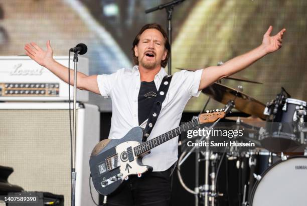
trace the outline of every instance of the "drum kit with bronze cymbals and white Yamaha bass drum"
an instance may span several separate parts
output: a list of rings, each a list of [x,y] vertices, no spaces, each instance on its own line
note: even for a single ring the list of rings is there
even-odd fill
[[[261,84],[240,77],[226,78]],[[237,172],[237,174],[232,173],[231,176],[237,175],[239,181],[238,195],[235,197],[234,205],[306,205],[307,103],[291,98],[284,88],[281,88],[276,98],[266,105],[243,93],[242,86],[233,89],[221,82],[216,82],[202,92],[209,96],[202,112],[206,110],[210,99],[214,99],[226,105],[226,112],[231,112],[235,108],[250,115],[249,117],[226,115],[224,121],[235,122],[236,125],[245,128],[250,134],[242,138],[254,142],[256,146],[248,152],[236,150],[213,152],[210,148],[206,148],[206,152],[197,152],[194,189],[190,189],[185,184],[180,167],[197,148],[183,152],[179,158],[177,172],[183,187],[195,195],[195,205],[223,205],[219,201],[223,193],[217,189],[218,174],[222,161],[231,160],[236,161]],[[214,126],[215,124],[212,125]],[[201,161],[205,162],[203,185],[200,184],[199,175]],[[226,196],[229,198],[228,194]],[[229,199],[227,205],[232,205]]]

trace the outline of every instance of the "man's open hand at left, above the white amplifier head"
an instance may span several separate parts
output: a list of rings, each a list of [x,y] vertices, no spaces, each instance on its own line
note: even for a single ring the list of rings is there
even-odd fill
[[[36,61],[38,64],[46,67],[46,65],[53,61],[53,50],[50,46],[50,40],[47,41],[47,51],[41,49],[35,43],[25,45],[26,55]]]

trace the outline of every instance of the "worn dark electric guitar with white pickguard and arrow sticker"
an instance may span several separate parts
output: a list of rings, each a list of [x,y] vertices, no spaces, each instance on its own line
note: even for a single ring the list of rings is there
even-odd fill
[[[203,123],[214,122],[223,118],[225,112],[203,113],[199,118],[182,124],[158,137],[142,142],[143,128],[134,127],[121,139],[105,139],[93,149],[90,157],[90,170],[95,189],[103,195],[114,192],[129,175],[141,176],[152,170],[143,165],[141,158],[154,147]]]

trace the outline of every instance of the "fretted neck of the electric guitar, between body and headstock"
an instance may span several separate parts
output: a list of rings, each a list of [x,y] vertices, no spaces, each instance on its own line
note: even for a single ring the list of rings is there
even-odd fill
[[[150,139],[146,142],[141,143],[140,145],[136,146],[133,148],[134,150],[134,154],[136,156],[145,153],[147,151],[149,151],[150,149],[159,146],[160,144],[163,144],[166,141],[169,141],[170,139],[173,139],[174,137],[177,137],[178,135],[180,135],[183,132],[186,132],[190,129],[192,129],[193,127],[196,127],[199,125],[199,118],[194,119],[192,121],[189,121],[185,124],[180,125],[179,127],[172,129],[169,132],[166,132],[158,137],[155,137],[153,139]]]

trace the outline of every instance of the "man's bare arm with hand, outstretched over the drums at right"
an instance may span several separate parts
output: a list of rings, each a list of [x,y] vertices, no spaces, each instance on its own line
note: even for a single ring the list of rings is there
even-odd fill
[[[219,79],[230,76],[245,69],[263,56],[271,52],[275,52],[281,48],[282,35],[285,32],[285,29],[282,29],[278,34],[271,37],[270,34],[272,30],[273,27],[270,26],[266,33],[263,35],[262,44],[259,47],[243,55],[235,57],[225,62],[221,66],[212,66],[203,69],[199,90],[208,87]]]

